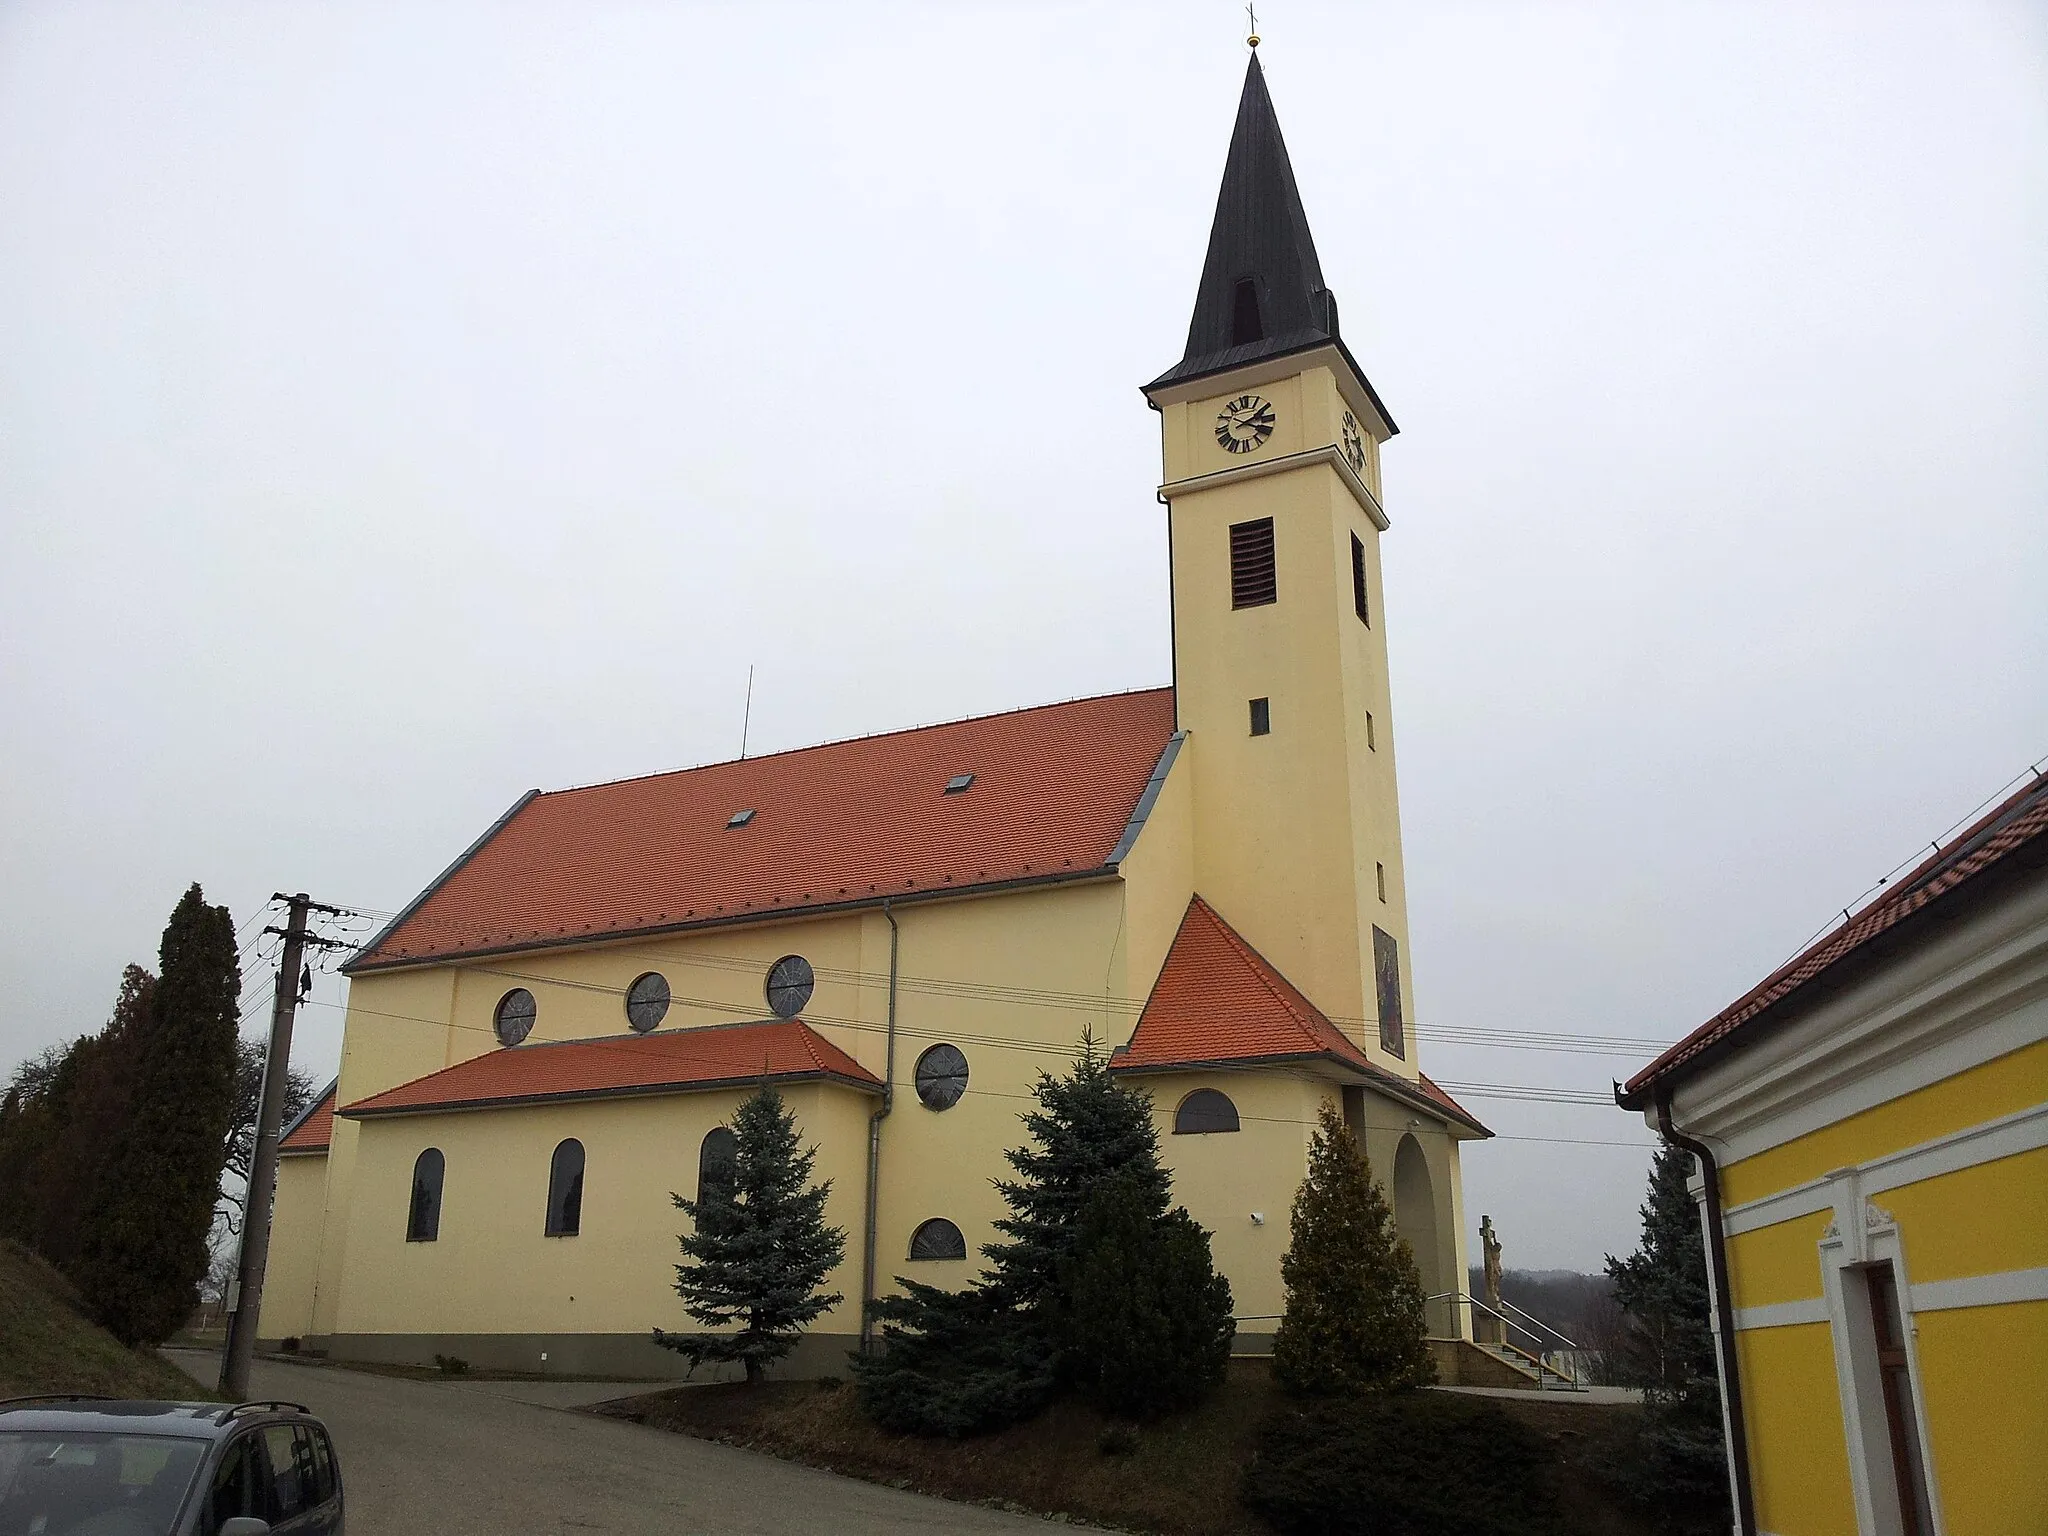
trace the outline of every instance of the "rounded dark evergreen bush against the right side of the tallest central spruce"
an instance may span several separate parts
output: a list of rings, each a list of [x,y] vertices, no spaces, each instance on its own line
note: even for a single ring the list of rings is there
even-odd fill
[[[1061,1376],[1108,1413],[1151,1419],[1223,1384],[1237,1321],[1208,1233],[1159,1210],[1137,1182],[1104,1180],[1059,1262],[1053,1343]]]

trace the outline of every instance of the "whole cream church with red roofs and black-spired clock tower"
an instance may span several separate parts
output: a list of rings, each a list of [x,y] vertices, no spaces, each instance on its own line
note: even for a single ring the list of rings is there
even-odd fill
[[[770,1081],[848,1233],[846,1300],[786,1368],[840,1368],[895,1276],[973,1280],[1032,1083],[1083,1032],[1153,1100],[1239,1350],[1278,1325],[1323,1104],[1389,1190],[1432,1333],[1468,1335],[1458,1145],[1487,1130],[1411,1028],[1395,422],[1257,55],[1186,354],[1145,397],[1171,686],[520,795],[346,967],[340,1077],[283,1143],[262,1339],[680,1374],[649,1339],[692,1327],[670,1194]]]

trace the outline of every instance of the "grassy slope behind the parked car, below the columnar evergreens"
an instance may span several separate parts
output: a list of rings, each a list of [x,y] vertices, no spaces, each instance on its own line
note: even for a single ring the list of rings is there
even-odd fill
[[[43,1260],[0,1241],[0,1397],[104,1393],[211,1401],[168,1360],[123,1348],[94,1323],[72,1284]]]

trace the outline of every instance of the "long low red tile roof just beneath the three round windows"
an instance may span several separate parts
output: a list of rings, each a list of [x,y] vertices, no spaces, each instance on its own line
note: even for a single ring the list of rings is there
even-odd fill
[[[340,1110],[348,1120],[424,1110],[473,1110],[631,1094],[694,1094],[762,1081],[842,1081],[881,1092],[881,1079],[809,1024],[709,1024],[655,1034],[514,1044],[457,1063]]]

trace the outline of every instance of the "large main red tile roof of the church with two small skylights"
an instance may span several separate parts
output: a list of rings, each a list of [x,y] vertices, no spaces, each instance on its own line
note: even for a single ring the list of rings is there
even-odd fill
[[[532,795],[346,969],[1073,879],[1171,735],[1151,688]]]

